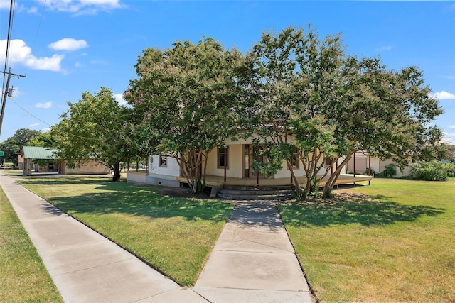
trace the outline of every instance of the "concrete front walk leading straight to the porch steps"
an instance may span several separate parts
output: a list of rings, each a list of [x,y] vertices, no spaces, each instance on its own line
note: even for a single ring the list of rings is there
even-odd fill
[[[237,203],[193,290],[210,302],[312,302],[272,202]]]

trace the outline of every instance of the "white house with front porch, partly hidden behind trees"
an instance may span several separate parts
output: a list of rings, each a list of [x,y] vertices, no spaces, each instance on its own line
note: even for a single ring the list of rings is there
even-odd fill
[[[283,161],[281,170],[272,177],[266,178],[260,173],[255,173],[252,169],[253,160],[267,161],[267,159],[253,159],[253,143],[251,140],[240,139],[238,141],[231,141],[228,139],[226,143],[228,145],[227,148],[214,148],[208,153],[206,184],[209,187],[220,187],[223,185],[274,186],[293,184],[291,172],[287,168],[286,161]],[[294,174],[301,184],[305,184],[306,174],[301,160],[295,158],[292,162],[294,164]],[[329,173],[336,170],[337,165],[338,163],[336,162],[328,163],[328,166],[331,166]],[[371,179],[372,177],[368,176],[358,176],[358,180],[354,180],[351,175],[342,175],[339,178],[338,184],[360,182],[363,180],[368,181]],[[127,173],[127,181],[139,184],[181,187],[186,183],[186,178],[182,176],[181,167],[175,158],[167,155],[151,155],[146,174],[129,171]],[[323,182],[321,182],[321,185],[323,185]]]

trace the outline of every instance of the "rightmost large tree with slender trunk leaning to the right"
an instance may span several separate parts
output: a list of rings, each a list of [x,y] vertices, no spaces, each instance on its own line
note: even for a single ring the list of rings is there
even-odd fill
[[[440,131],[429,123],[442,111],[416,67],[395,71],[379,59],[348,57],[342,74],[343,86],[332,104],[333,115],[328,116],[336,125],[337,156],[342,161],[326,182],[325,197],[358,150],[392,158],[404,167],[410,160],[425,158],[425,151],[441,140]]]

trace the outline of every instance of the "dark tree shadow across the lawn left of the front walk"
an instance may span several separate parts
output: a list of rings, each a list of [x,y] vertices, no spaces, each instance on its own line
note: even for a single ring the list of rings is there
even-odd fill
[[[80,194],[73,197],[48,199],[70,215],[129,214],[153,218],[182,217],[186,220],[225,221],[233,205],[217,200],[186,197],[169,197],[156,194],[159,187],[144,187],[122,182],[101,183],[100,192]]]

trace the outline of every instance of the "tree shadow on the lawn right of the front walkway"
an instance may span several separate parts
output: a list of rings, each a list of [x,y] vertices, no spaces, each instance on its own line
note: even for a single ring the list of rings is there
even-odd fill
[[[444,209],[412,206],[378,195],[342,194],[333,199],[308,199],[279,206],[285,224],[296,227],[361,224],[363,226],[415,221],[421,216],[437,216]]]

